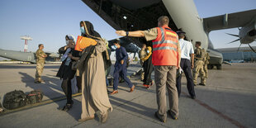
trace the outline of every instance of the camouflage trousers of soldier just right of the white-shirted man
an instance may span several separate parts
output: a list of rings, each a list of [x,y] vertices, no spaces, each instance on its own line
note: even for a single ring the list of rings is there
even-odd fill
[[[206,84],[206,76],[205,76],[205,71],[203,69],[203,65],[204,65],[204,62],[203,60],[197,60],[196,63],[195,63],[195,70],[193,72],[193,77],[194,77],[194,84],[197,85],[197,77],[198,77],[198,73],[200,73],[200,77],[201,77],[201,83],[202,84]]]

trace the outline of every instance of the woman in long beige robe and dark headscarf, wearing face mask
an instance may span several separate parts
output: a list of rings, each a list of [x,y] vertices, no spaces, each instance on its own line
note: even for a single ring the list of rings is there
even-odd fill
[[[88,58],[79,68],[82,73],[82,114],[78,121],[94,119],[94,114],[99,111],[102,122],[107,121],[108,112],[112,111],[107,95],[106,76],[102,52],[107,51],[106,44],[102,41],[97,31],[93,30],[89,21],[80,22],[82,36],[97,40],[97,45],[88,46],[83,52]],[[83,58],[82,55],[82,58]],[[108,55],[107,55],[108,56]],[[81,58],[81,59],[82,59]]]

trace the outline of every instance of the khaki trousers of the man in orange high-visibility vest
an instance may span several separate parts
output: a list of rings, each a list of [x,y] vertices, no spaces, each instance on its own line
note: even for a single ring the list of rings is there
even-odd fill
[[[173,116],[178,117],[178,91],[176,88],[176,66],[154,66],[154,80],[156,84],[156,97],[158,114],[166,120],[166,89],[168,91],[169,109]]]

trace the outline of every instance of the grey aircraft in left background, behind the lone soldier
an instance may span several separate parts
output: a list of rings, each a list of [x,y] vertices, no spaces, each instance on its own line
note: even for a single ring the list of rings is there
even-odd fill
[[[53,52],[45,52],[47,57],[45,63],[59,61],[59,54]],[[36,63],[36,53],[34,52],[21,52],[15,50],[2,50],[0,49],[0,56],[7,59]]]

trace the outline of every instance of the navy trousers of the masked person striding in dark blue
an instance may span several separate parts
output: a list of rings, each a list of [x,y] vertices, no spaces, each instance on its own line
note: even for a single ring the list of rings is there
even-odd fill
[[[125,62],[126,63],[126,62]],[[114,86],[113,89],[117,90],[117,86],[119,83],[119,73],[121,74],[121,77],[124,78],[125,82],[128,84],[130,88],[132,88],[132,83],[130,82],[130,79],[127,78],[127,68],[126,64],[117,64],[114,70]]]

